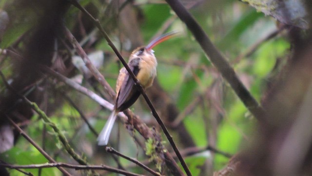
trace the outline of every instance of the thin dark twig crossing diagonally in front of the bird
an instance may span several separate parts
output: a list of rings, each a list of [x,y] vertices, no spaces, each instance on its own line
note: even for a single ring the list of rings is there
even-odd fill
[[[140,91],[140,93],[142,94],[142,96],[144,97],[146,103],[148,104],[148,106],[150,107],[152,114],[154,115],[154,117],[156,118],[156,121],[158,122],[158,124],[160,125],[161,129],[163,130],[163,132],[165,133],[168,141],[170,142],[172,148],[174,149],[179,161],[181,162],[181,165],[184,169],[184,171],[186,172],[186,174],[188,176],[192,176],[189,168],[187,167],[183,157],[181,156],[181,154],[179,153],[179,150],[176,147],[176,144],[172,138],[172,136],[170,135],[170,133],[168,132],[166,126],[164,125],[164,123],[161,121],[159,115],[157,114],[152,102],[150,101],[150,99],[148,98],[148,96],[146,95],[144,89],[142,88],[142,86],[140,85],[139,81],[137,80],[136,76],[134,75],[134,73],[131,71],[130,67],[127,65],[127,63],[125,62],[125,60],[123,59],[123,57],[121,56],[121,54],[119,53],[119,51],[117,50],[116,46],[113,44],[113,42],[110,40],[110,38],[108,37],[107,33],[105,32],[105,30],[103,29],[103,27],[100,25],[100,22],[95,19],[87,10],[85,10],[76,0],[71,0],[72,4],[74,6],[76,6],[78,9],[80,9],[82,12],[84,12],[94,23],[95,25],[99,28],[100,32],[102,33],[102,35],[104,36],[104,38],[106,39],[108,45],[111,46],[111,48],[114,50],[115,54],[117,55],[117,57],[119,58],[120,62],[122,63],[122,65],[126,68],[126,70],[129,72],[130,77],[135,81],[135,85],[137,86],[138,90]]]

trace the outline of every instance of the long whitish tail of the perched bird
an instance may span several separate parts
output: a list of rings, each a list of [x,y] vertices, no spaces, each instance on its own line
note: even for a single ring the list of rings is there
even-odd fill
[[[98,135],[98,145],[107,145],[109,136],[112,132],[115,120],[117,118],[117,113],[115,110],[111,113],[111,115],[108,117],[108,120],[103,128],[103,130]]]

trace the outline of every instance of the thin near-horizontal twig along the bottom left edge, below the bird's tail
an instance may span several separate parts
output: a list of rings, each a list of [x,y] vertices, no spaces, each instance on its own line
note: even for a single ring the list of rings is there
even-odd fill
[[[121,169],[116,169],[106,165],[78,165],[78,164],[67,164],[67,163],[44,163],[44,164],[30,164],[30,165],[15,165],[15,164],[2,164],[0,166],[10,168],[10,169],[38,169],[38,168],[52,168],[52,167],[64,167],[76,170],[106,170],[118,174],[123,174],[125,176],[143,176],[131,172],[127,172]]]

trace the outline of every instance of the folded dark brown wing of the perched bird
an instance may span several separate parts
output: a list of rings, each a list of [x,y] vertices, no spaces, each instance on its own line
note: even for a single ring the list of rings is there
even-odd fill
[[[136,76],[139,71],[138,67],[139,60],[140,58],[136,58],[128,63],[128,66]],[[124,78],[122,79],[118,77],[116,87],[116,90],[119,89],[115,105],[117,111],[123,111],[128,109],[131,105],[133,105],[136,102],[137,98],[140,95],[139,91],[137,90],[137,87],[134,86],[135,82],[130,77],[128,71],[125,68],[122,69],[123,70],[120,70],[119,74],[124,74]]]

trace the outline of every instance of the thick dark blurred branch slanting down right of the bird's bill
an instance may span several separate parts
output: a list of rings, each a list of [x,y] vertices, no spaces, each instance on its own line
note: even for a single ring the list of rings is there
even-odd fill
[[[215,45],[210,41],[204,30],[195,21],[193,16],[178,0],[166,0],[171,8],[176,12],[176,15],[183,21],[193,36],[200,44],[203,51],[209,56],[210,61],[219,70],[221,75],[228,81],[237,96],[242,100],[246,108],[263,124],[267,124],[265,119],[265,110],[258,104],[255,98],[247,90],[247,88],[238,79],[234,69],[217,50]]]

